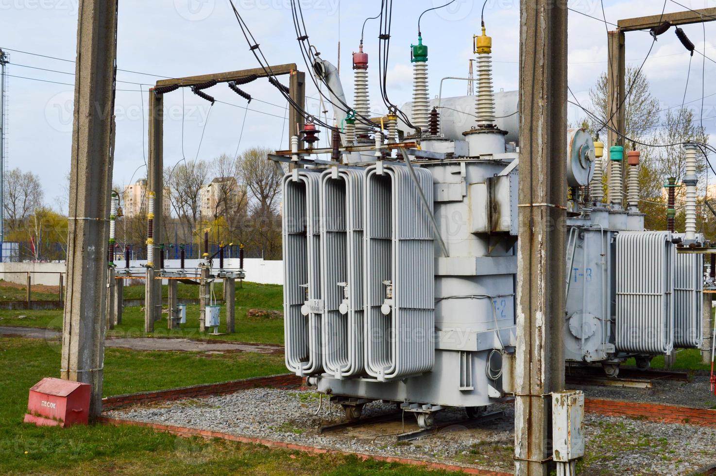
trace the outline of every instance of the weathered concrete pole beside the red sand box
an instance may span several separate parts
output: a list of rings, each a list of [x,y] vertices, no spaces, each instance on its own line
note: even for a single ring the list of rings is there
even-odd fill
[[[63,379],[92,385],[91,417],[102,412],[116,31],[115,1],[79,2],[60,372]]]

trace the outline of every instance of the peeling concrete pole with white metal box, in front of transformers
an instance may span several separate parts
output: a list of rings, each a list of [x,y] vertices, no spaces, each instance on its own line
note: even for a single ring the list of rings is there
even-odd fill
[[[564,388],[567,2],[520,2],[517,475],[549,475],[551,392]]]

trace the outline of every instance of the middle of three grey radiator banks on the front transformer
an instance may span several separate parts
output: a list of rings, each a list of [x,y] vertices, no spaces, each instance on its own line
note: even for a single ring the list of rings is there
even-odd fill
[[[363,173],[321,173],[321,293],[324,366],[336,379],[364,370]]]

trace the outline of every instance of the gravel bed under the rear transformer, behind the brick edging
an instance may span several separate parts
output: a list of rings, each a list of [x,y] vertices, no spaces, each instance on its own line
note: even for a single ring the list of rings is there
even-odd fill
[[[567,385],[584,391],[585,397],[650,402],[682,407],[714,408],[716,395],[711,392],[708,375],[695,375],[691,382],[654,380],[651,389],[622,389],[591,385]]]

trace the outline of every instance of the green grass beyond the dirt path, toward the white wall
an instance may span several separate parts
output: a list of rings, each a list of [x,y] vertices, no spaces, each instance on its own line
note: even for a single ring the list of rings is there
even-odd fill
[[[164,286],[166,287],[166,286]],[[197,286],[180,284],[179,291],[198,293]],[[214,288],[221,289],[221,283]],[[125,298],[144,296],[144,286],[127,286]],[[190,297],[182,296],[180,297]],[[132,297],[134,298],[134,297]],[[260,342],[263,344],[284,343],[284,320],[277,318],[248,318],[248,309],[268,309],[279,311],[283,306],[283,287],[274,284],[243,283],[236,285],[236,333],[212,336],[199,332],[199,306],[187,306],[187,323],[181,329],[169,331],[166,319],[155,323],[154,337],[183,337],[186,339],[220,339],[226,341]],[[221,308],[221,326],[219,332],[226,331],[226,306]],[[2,311],[0,326],[27,326],[62,331],[62,311]],[[107,332],[114,337],[144,337],[144,311],[138,306],[125,307],[122,313],[122,324]]]

